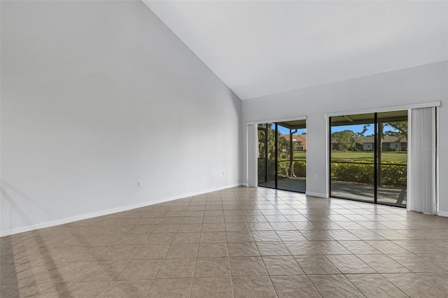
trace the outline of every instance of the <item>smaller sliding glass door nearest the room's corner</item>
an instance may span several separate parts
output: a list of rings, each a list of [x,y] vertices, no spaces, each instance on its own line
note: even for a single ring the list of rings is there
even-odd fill
[[[258,125],[258,186],[306,191],[305,120]]]

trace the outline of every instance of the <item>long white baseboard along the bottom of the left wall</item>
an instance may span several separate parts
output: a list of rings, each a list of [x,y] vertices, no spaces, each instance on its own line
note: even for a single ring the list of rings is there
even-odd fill
[[[123,206],[123,207],[118,207],[118,208],[106,209],[106,210],[103,210],[103,211],[97,211],[97,212],[93,212],[93,213],[86,213],[86,214],[82,214],[82,215],[76,215],[76,216],[71,216],[69,218],[62,218],[62,219],[59,219],[59,220],[51,220],[49,222],[41,222],[41,223],[38,223],[36,225],[28,225],[26,227],[17,227],[17,228],[14,228],[14,229],[6,229],[6,230],[0,232],[0,237],[9,236],[9,235],[13,235],[13,234],[24,233],[24,232],[29,232],[29,231],[33,231],[35,229],[43,229],[45,227],[55,227],[57,225],[64,225],[66,223],[76,222],[78,220],[87,220],[89,218],[97,218],[98,216],[109,215],[109,214],[123,212],[123,211],[130,211],[130,210],[136,209],[136,208],[141,208],[141,207],[151,206],[151,205],[155,205],[155,204],[165,203],[167,201],[173,201],[175,199],[183,199],[183,198],[186,198],[186,197],[193,197],[193,196],[197,196],[199,194],[206,194],[207,192],[217,192],[218,190],[225,190],[225,189],[228,189],[228,188],[237,187],[237,186],[241,186],[241,185],[245,186],[246,183],[235,183],[235,184],[231,184],[231,185],[225,185],[225,186],[222,186],[222,187],[214,187],[214,188],[209,188],[207,190],[200,190],[200,191],[197,191],[197,192],[188,192],[186,194],[179,194],[179,195],[176,195],[176,196],[166,197],[166,198],[162,198],[162,199],[157,199],[157,200],[154,200],[154,201],[145,201],[145,202],[142,202],[142,203],[139,203],[139,204],[133,204],[133,205]]]

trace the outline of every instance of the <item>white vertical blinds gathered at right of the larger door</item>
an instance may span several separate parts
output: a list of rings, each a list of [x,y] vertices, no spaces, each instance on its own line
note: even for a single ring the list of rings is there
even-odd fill
[[[435,213],[435,107],[410,111],[408,203],[411,211]]]

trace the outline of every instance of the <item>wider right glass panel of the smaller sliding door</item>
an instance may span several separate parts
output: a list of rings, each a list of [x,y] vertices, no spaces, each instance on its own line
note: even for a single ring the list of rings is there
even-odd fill
[[[277,129],[277,188],[305,192],[307,190],[305,120],[280,122]]]

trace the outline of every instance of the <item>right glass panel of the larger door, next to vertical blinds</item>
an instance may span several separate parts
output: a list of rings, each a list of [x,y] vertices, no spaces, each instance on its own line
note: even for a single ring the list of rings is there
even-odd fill
[[[407,111],[377,114],[377,202],[406,206]]]

